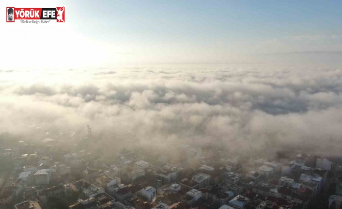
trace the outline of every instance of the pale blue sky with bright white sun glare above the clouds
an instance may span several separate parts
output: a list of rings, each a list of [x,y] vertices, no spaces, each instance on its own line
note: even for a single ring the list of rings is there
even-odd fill
[[[70,50],[63,53],[70,51],[69,57],[84,53],[85,46],[88,53],[96,53],[91,57],[97,56],[97,64],[224,63],[265,53],[342,51],[340,0],[13,0],[10,4],[65,5],[67,23],[58,26],[63,34],[57,36],[63,39],[61,48]],[[1,22],[0,27],[18,33],[57,31],[56,25]],[[41,40],[40,35],[30,40]],[[78,63],[82,60],[79,56]]]

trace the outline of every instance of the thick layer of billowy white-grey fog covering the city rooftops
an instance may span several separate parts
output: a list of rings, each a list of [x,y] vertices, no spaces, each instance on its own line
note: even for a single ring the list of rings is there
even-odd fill
[[[84,131],[112,145],[219,143],[231,153],[339,155],[342,70],[133,66],[0,71],[0,130]]]

